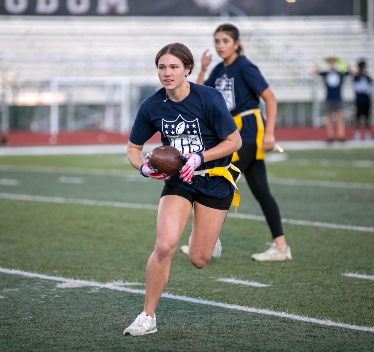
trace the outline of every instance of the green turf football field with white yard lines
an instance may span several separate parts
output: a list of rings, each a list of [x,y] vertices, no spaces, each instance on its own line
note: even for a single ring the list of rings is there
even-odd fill
[[[124,155],[0,157],[0,351],[373,351],[374,150],[286,151],[267,170],[294,259],[251,261],[271,236],[240,180],[220,259],[178,251],[159,331],[124,337],[163,182]]]

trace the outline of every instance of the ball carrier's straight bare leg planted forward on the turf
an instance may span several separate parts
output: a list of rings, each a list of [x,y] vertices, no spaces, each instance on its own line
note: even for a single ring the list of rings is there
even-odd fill
[[[191,211],[191,203],[183,197],[166,195],[160,199],[156,247],[145,270],[144,310],[147,315],[153,316],[168,283],[171,260]]]

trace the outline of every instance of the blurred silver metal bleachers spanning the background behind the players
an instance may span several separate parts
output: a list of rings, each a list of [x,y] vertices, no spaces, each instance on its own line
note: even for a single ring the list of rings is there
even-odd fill
[[[46,122],[51,131],[61,125],[59,94],[63,95],[60,104],[67,106],[104,104],[108,116],[114,113],[108,112],[111,108],[107,107],[120,104],[121,116],[126,115],[120,127],[124,131],[129,128],[142,96],[150,94],[149,86],[160,87],[154,64],[159,49],[171,42],[187,45],[196,60],[196,69],[189,77],[194,82],[203,51],[210,49],[213,55],[210,68],[220,61],[214,50],[213,33],[224,22],[239,28],[244,54],[259,66],[278,102],[288,104],[283,110],[281,105],[278,109],[279,123],[284,125],[300,121],[310,124],[312,119],[313,124],[320,123],[318,101],[323,100],[324,86],[311,73],[321,59],[337,56],[356,66],[359,58],[365,58],[369,72],[374,69],[373,31],[367,30],[356,16],[3,16],[0,17],[0,78],[6,78],[0,85],[2,92],[6,90],[3,102],[7,99],[8,105],[50,105],[50,113],[35,112],[34,120],[39,125],[44,124],[43,119],[53,120]],[[344,84],[343,90],[348,100],[353,99],[351,81]],[[65,84],[65,88],[56,88],[54,82]],[[141,87],[145,87],[143,91]],[[33,91],[36,96],[28,103],[28,94]],[[45,94],[48,92],[51,94]],[[292,112],[294,107],[297,111]],[[100,115],[97,110],[92,114]],[[89,121],[91,115],[87,117]],[[109,129],[118,125],[106,123],[111,126]]]

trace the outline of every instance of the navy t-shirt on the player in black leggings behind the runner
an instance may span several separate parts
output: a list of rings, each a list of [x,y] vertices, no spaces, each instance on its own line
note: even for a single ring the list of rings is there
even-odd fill
[[[223,94],[232,116],[246,110],[258,109],[260,94],[269,87],[257,66],[244,56],[238,56],[226,67],[223,62],[219,63],[204,84]],[[255,144],[257,136],[255,116],[245,116],[242,122],[240,136],[243,143]],[[263,124],[266,124],[264,118]]]

